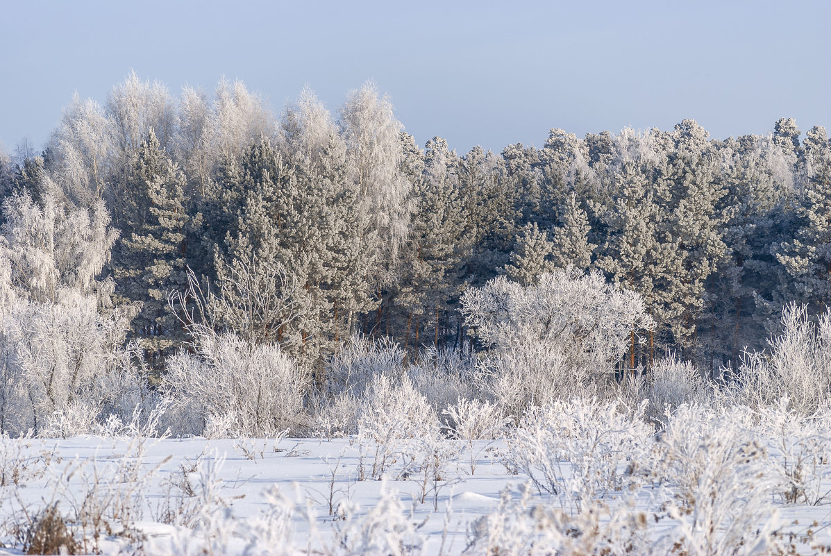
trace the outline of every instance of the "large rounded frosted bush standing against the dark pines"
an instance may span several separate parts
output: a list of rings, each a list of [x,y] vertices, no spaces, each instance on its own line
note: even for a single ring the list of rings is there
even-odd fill
[[[573,268],[543,273],[527,287],[499,276],[468,289],[461,303],[466,326],[493,349],[494,376],[509,377],[495,395],[509,398],[512,409],[597,392],[632,332],[654,325],[637,293]]]

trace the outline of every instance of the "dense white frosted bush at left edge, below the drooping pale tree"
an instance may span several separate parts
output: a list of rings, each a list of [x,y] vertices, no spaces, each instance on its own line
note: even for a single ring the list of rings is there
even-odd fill
[[[66,290],[57,303],[17,299],[0,312],[6,431],[88,433],[99,417],[129,415],[145,396],[130,350],[121,347],[123,322],[105,317],[96,298]]]

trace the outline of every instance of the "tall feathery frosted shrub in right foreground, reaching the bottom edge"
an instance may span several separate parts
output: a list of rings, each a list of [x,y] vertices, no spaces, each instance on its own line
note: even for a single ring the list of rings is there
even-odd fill
[[[744,406],[682,405],[668,416],[657,467],[674,492],[666,507],[685,554],[775,554],[780,483],[756,421]]]

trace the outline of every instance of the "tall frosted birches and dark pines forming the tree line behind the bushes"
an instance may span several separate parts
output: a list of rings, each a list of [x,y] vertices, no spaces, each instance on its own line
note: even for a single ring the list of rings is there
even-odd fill
[[[725,140],[685,120],[460,155],[417,145],[371,84],[336,115],[306,90],[274,116],[240,82],[175,97],[132,74],[103,106],[73,99],[41,155],[0,155],[9,279],[95,292],[160,370],[196,320],[312,367],[355,333],[476,351],[470,288],[597,270],[654,322],[622,366],[738,367],[787,305],[831,298],[831,145],[801,137],[788,118]],[[32,224],[49,218],[61,242]],[[83,268],[43,273],[56,245]]]

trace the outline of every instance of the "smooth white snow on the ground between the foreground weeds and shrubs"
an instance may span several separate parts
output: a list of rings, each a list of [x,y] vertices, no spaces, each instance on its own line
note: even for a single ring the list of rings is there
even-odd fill
[[[88,503],[90,499],[99,499],[99,505],[106,506],[104,514],[111,514],[106,520],[114,534],[102,529],[101,539],[91,540],[85,547],[101,554],[131,550],[139,554],[199,554],[203,549],[205,554],[350,554],[339,544],[347,537],[357,543],[361,534],[376,540],[394,534],[399,534],[396,539],[416,539],[414,545],[420,547],[416,554],[462,554],[472,539],[476,519],[501,512],[508,516],[502,525],[509,527],[512,519],[529,516],[517,508],[541,504],[553,510],[562,503],[551,494],[526,490],[527,476],[509,472],[501,456],[509,450],[506,440],[476,440],[472,445],[479,455],[475,473],[470,474],[468,448],[462,447],[460,455],[445,465],[440,480],[427,485],[422,502],[423,480],[415,474],[406,479],[359,480],[361,465],[371,465],[367,455],[374,446],[361,447],[356,437],[283,438],[276,442],[202,437],[5,438],[0,457],[4,480],[11,476],[9,471],[21,467],[20,462],[32,464],[32,457],[40,459],[27,468],[17,485],[7,480],[9,484],[0,487],[2,543],[14,547],[0,549],[0,554],[21,554],[14,525],[26,524],[31,519],[26,516],[36,515],[53,502],[69,516],[81,514],[82,507],[95,507]],[[568,464],[563,463],[565,467]],[[823,487],[831,490],[829,465],[824,467]],[[396,469],[397,465],[391,467],[393,474]],[[190,496],[184,495],[188,489]],[[385,499],[385,492],[394,496]],[[278,496],[282,501],[275,502],[275,493],[282,495]],[[634,493],[608,494],[603,502],[628,514],[645,513],[650,521],[657,516],[658,523],[650,525],[649,535],[659,539],[681,531],[689,519],[673,519],[658,509],[665,494],[660,486],[644,485]],[[122,503],[130,507],[121,512],[130,514],[126,523],[129,534],[112,517],[117,517]],[[174,514],[165,514],[170,509]],[[379,529],[379,510],[384,516],[380,521],[391,524],[386,532]],[[396,511],[400,515],[396,516]],[[779,523],[785,525],[783,531],[813,531],[808,544],[796,539],[799,554],[812,554],[812,545],[831,544],[829,505],[777,504],[776,511]],[[272,521],[266,519],[268,515]],[[609,515],[602,519],[617,519],[613,510]],[[263,524],[269,524],[271,537]],[[404,525],[396,529],[396,524],[409,524],[410,529],[404,530]],[[275,533],[277,529],[284,529],[284,537]],[[263,549],[267,544],[263,539],[272,539],[271,549]],[[352,548],[357,546],[372,552],[370,544],[353,544]],[[283,549],[286,552],[281,552]]]

